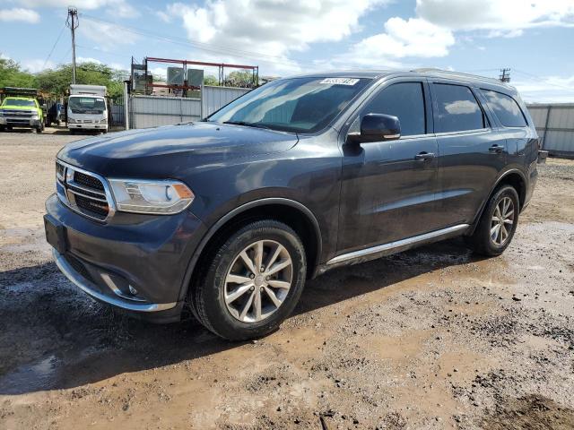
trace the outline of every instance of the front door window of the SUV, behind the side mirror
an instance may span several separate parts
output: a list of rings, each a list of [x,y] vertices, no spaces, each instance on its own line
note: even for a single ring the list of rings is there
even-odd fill
[[[422,83],[395,83],[381,90],[362,110],[362,115],[367,114],[398,117],[403,136],[426,133]]]

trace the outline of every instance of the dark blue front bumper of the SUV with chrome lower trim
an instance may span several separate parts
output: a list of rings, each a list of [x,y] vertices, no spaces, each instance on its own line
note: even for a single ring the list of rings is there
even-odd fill
[[[71,211],[56,194],[46,211],[64,231],[62,249],[53,251],[57,266],[78,288],[146,320],[178,321],[187,265],[204,235],[203,223],[191,212],[117,212],[103,223]]]

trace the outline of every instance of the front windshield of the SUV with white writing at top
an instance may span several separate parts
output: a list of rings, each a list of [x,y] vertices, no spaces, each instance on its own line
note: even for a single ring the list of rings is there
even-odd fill
[[[315,133],[370,82],[355,78],[293,78],[269,82],[232,101],[206,121]]]

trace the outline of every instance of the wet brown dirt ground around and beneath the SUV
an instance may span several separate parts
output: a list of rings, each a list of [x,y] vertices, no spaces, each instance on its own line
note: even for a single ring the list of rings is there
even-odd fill
[[[0,134],[1,429],[574,428],[574,162],[539,168],[505,254],[460,240],[327,272],[265,339],[114,314],[42,228],[76,137]]]

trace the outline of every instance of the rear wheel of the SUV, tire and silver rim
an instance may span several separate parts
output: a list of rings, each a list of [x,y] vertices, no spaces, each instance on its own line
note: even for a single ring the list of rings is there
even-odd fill
[[[502,254],[517,229],[519,207],[517,190],[502,185],[491,195],[474,234],[466,237],[466,244],[477,254]]]

